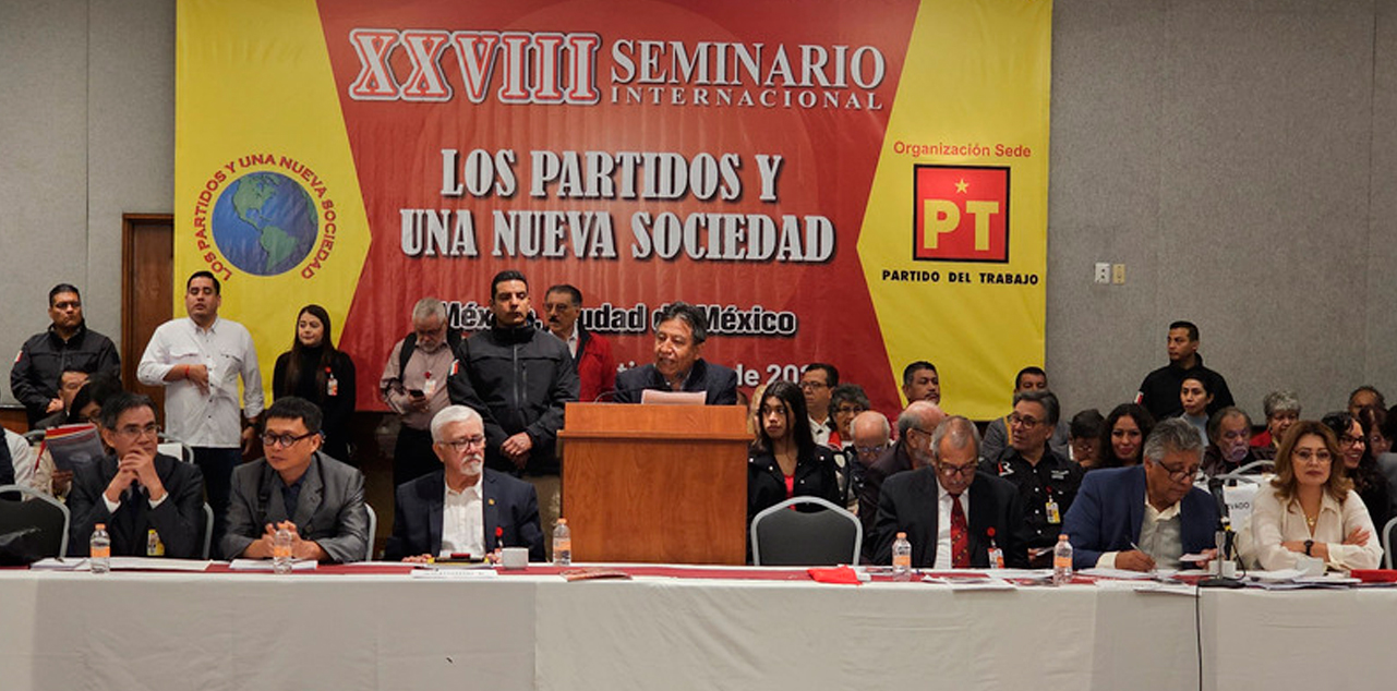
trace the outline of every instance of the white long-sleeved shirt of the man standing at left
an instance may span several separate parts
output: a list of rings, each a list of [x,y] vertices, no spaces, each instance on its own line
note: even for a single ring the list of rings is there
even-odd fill
[[[165,376],[182,364],[208,367],[208,394],[187,378],[165,381]],[[257,348],[247,328],[236,321],[215,318],[207,329],[189,317],[161,324],[136,374],[141,384],[165,387],[165,429],[190,447],[242,445],[239,377],[243,380],[243,415],[251,420],[263,410]]]

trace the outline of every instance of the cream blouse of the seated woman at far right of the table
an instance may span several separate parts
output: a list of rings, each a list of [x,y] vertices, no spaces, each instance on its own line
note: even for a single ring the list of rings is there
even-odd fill
[[[1355,528],[1368,530],[1366,544],[1344,544],[1344,537],[1348,537]],[[1299,553],[1281,546],[1282,542],[1291,540],[1315,540],[1326,544],[1329,547],[1326,565],[1336,570],[1377,568],[1383,558],[1382,536],[1373,529],[1373,519],[1356,491],[1350,491],[1343,503],[1326,491],[1320,500],[1315,533],[1310,535],[1299,498],[1281,500],[1274,487],[1261,486],[1261,491],[1256,493],[1252,503],[1248,525],[1243,525],[1238,535],[1238,553],[1252,568],[1267,571],[1295,568]]]

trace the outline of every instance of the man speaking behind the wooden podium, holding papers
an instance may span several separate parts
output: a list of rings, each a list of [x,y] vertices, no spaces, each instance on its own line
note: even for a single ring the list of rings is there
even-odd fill
[[[655,363],[616,376],[616,402],[638,403],[645,389],[704,392],[705,405],[738,403],[738,373],[703,357],[708,320],[697,307],[675,302],[659,310]]]

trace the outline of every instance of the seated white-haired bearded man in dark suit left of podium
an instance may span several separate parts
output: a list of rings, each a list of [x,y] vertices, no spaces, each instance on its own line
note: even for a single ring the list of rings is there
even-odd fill
[[[432,449],[441,469],[398,487],[386,560],[436,556],[479,557],[502,547],[528,547],[543,561],[543,532],[534,486],[485,468],[485,423],[464,405],[432,419]]]

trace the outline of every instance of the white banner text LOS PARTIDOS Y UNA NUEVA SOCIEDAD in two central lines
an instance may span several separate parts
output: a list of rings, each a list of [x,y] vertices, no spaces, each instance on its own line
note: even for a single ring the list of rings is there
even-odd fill
[[[784,159],[756,154],[441,149],[443,198],[527,198],[712,204],[712,211],[641,209],[630,215],[619,247],[617,223],[602,209],[493,209],[489,221],[469,208],[402,208],[401,248],[408,257],[493,257],[824,262],[834,255],[834,223],[823,215],[722,211],[746,204],[747,184],[760,204],[777,204]],[[520,173],[524,173],[522,176]],[[527,188],[521,187],[527,184]],[[489,225],[486,244],[479,225]]]

